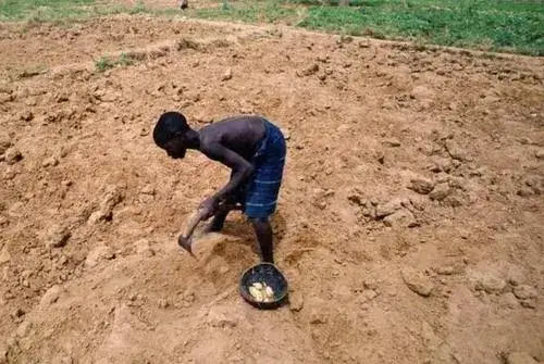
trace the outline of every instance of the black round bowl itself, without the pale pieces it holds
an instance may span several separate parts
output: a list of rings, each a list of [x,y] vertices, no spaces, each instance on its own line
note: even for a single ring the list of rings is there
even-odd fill
[[[256,301],[249,293],[249,287],[254,283],[265,283],[274,291],[273,299],[270,302]],[[273,310],[286,302],[288,293],[287,279],[274,264],[260,263],[244,272],[239,280],[239,291],[244,300],[252,306],[260,310]]]

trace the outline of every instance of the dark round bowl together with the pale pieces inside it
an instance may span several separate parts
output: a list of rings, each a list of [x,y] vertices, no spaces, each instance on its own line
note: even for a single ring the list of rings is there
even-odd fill
[[[261,310],[280,307],[287,299],[287,279],[271,263],[254,265],[242,275],[239,290],[244,300]]]

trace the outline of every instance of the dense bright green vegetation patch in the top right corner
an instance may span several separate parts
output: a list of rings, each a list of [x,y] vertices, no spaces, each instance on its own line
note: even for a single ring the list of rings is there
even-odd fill
[[[515,1],[366,1],[311,7],[311,29],[425,43],[544,55],[544,4]]]

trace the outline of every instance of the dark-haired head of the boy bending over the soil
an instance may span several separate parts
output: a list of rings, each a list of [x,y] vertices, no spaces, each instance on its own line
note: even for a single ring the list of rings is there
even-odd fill
[[[188,131],[191,128],[185,116],[178,112],[163,113],[153,129],[154,143],[164,149],[169,156],[182,159],[185,156],[189,143]]]

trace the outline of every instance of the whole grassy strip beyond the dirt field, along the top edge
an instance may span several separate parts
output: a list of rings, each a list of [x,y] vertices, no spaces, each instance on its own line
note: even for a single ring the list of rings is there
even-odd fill
[[[0,21],[60,21],[116,13],[285,23],[384,39],[544,55],[542,0],[208,0],[184,12],[95,0],[0,0]],[[339,2],[347,5],[341,7]],[[173,4],[175,1],[172,0]],[[190,0],[189,0],[190,7]]]

